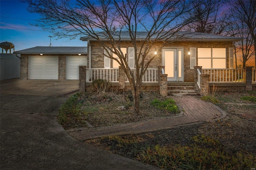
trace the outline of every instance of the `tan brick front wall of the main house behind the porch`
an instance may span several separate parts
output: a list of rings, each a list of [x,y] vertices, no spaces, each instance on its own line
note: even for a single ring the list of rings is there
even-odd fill
[[[104,68],[104,49],[98,42],[90,42],[91,50],[92,50],[92,68]],[[162,43],[155,43],[148,56],[155,55],[155,49],[159,49]],[[128,48],[132,47],[131,42],[121,42],[121,47]],[[233,47],[232,42],[173,42],[167,45],[166,47],[179,47],[184,49],[184,81],[185,82],[193,82],[194,81],[194,69],[190,69],[190,55],[188,55],[188,51],[190,51],[190,47],[197,48],[226,48],[226,67],[229,68],[229,47]],[[196,51],[197,56],[197,51]],[[148,58],[146,58],[148,61]],[[155,58],[152,60],[148,68],[157,68],[162,65],[162,51],[156,54]],[[112,61],[111,61],[112,67]]]

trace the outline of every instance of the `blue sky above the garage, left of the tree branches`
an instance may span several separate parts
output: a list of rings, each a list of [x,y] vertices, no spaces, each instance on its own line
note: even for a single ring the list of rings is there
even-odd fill
[[[49,46],[50,32],[43,31],[41,27],[31,26],[40,16],[27,11],[27,4],[19,0],[0,0],[0,42],[11,42],[15,51],[36,46]],[[54,47],[86,46],[86,42],[60,39],[52,37]],[[2,52],[2,49],[1,51]],[[5,51],[4,51],[5,52]]]

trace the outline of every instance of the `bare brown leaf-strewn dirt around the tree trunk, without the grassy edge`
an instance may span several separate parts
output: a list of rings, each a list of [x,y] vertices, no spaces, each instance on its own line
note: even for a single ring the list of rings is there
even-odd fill
[[[175,116],[179,113],[179,111],[174,113],[165,109],[157,109],[150,104],[154,99],[165,101],[167,97],[162,97],[157,92],[141,93],[139,116],[134,115],[131,92],[106,93],[104,95],[85,94],[80,96],[78,103],[82,104],[82,119],[89,123],[91,127],[107,127],[148,121],[160,117]]]

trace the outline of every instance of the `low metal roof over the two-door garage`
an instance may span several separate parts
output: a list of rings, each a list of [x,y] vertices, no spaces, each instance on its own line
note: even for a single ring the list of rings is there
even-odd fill
[[[15,51],[17,54],[87,54],[87,47],[32,47]]]

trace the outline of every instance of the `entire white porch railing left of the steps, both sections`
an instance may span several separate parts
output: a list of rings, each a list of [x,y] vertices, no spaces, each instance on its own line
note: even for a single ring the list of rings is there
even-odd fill
[[[136,69],[132,69],[134,75],[136,74]],[[86,69],[86,81],[91,82],[94,79],[104,79],[110,82],[119,81],[119,69]],[[127,79],[128,81],[128,79]],[[142,77],[142,82],[158,82],[158,69],[149,68]]]

